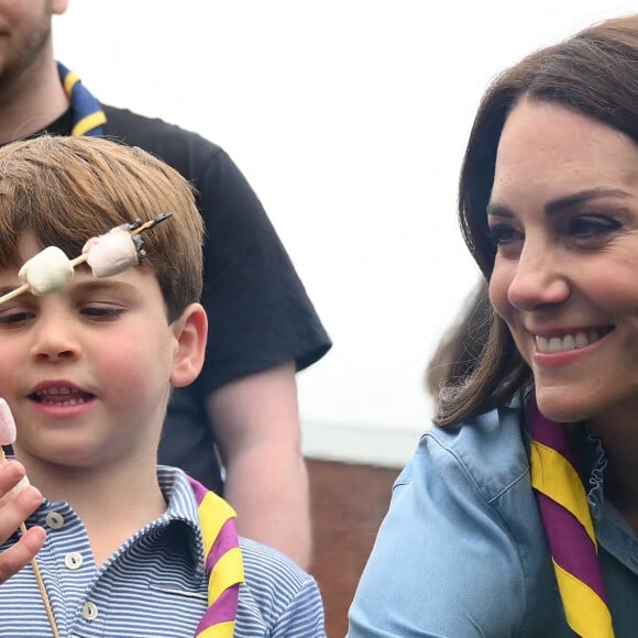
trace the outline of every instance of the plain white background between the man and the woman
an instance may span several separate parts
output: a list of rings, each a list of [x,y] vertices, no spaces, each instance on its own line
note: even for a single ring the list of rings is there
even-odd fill
[[[614,0],[72,0],[56,55],[103,101],[221,144],[333,350],[299,376],[309,454],[403,464],[428,358],[472,287],[455,187],[490,78]]]

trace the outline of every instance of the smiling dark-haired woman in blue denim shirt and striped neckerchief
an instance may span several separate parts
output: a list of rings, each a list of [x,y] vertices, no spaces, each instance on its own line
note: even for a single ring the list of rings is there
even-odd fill
[[[638,15],[494,81],[460,217],[492,328],[397,481],[350,636],[632,636]]]

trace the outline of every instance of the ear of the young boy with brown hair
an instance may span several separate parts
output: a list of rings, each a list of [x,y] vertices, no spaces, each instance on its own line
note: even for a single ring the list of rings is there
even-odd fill
[[[193,383],[204,365],[208,318],[200,304],[190,304],[173,322],[172,330],[176,339],[170,384],[184,387]]]

